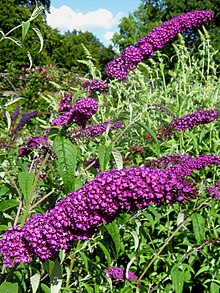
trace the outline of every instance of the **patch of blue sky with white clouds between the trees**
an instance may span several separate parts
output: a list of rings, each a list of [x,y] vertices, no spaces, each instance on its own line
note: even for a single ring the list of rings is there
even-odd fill
[[[47,21],[61,33],[90,31],[108,45],[123,16],[138,8],[141,0],[51,0]]]

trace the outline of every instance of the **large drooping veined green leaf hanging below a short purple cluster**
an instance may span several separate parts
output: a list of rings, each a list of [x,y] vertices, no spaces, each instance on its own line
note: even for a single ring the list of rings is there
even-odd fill
[[[67,192],[75,188],[75,172],[77,162],[77,147],[67,138],[59,135],[54,139],[53,147],[58,157],[57,169],[63,179]]]

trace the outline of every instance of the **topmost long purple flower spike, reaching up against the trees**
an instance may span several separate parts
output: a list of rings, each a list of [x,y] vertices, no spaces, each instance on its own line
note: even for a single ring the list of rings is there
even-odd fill
[[[121,56],[107,64],[107,75],[124,80],[130,70],[134,70],[137,64],[144,59],[149,59],[154,52],[174,39],[178,33],[189,28],[206,23],[213,18],[213,13],[208,10],[187,12],[165,21],[161,26],[155,27],[150,33],[142,37],[135,45],[124,49]]]

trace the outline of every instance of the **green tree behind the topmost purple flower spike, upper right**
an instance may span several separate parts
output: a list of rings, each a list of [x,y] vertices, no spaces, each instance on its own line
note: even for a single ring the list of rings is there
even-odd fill
[[[215,14],[214,20],[207,27],[212,45],[220,51],[220,0],[142,0],[137,10],[130,13],[128,17],[122,18],[119,24],[119,33],[113,36],[113,43],[122,50],[128,45],[136,43],[153,27],[161,25],[162,22],[185,12],[202,9],[212,10]],[[196,30],[187,34],[186,43],[190,46],[192,46],[192,36],[194,41],[198,39]],[[194,45],[196,46],[196,43]],[[169,49],[165,50],[169,52]]]

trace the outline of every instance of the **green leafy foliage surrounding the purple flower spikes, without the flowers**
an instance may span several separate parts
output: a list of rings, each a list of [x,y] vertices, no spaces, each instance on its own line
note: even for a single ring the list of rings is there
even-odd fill
[[[220,110],[219,78],[215,52],[204,31],[197,56],[192,56],[182,37],[174,45],[176,67],[166,71],[167,56],[157,53],[141,63],[124,82],[109,82],[108,94],[94,95],[99,110],[90,123],[122,119],[122,129],[107,129],[93,140],[82,137],[74,144],[70,129],[54,127],[49,133],[52,150],[35,150],[17,158],[18,147],[30,136],[42,135],[56,117],[59,94],[45,94],[52,114],[27,125],[13,145],[0,154],[0,228],[22,225],[31,215],[44,213],[68,192],[93,179],[100,171],[143,166],[146,161],[167,154],[220,155],[219,126],[215,120],[204,126],[176,133],[166,142],[157,138],[158,127],[173,117],[201,108]],[[100,77],[84,60],[93,78]],[[97,74],[97,75],[96,75]],[[87,93],[76,86],[73,101]],[[12,112],[19,100],[5,106]],[[10,113],[9,113],[10,114]],[[2,122],[3,136],[10,136],[7,114]],[[152,140],[147,139],[151,135]],[[43,162],[39,156],[43,154]],[[90,163],[92,160],[92,163]],[[99,169],[94,162],[99,163]],[[195,172],[200,198],[172,206],[149,206],[136,214],[125,213],[101,225],[88,241],[73,243],[70,252],[60,250],[56,260],[43,263],[34,259],[9,270],[2,265],[0,292],[204,292],[220,289],[219,200],[207,198],[204,181],[210,185],[219,178],[219,168]],[[138,275],[136,281],[112,280],[104,273],[111,266],[124,267]]]

